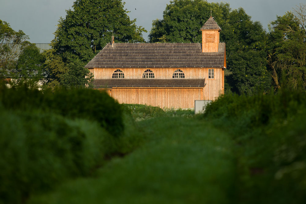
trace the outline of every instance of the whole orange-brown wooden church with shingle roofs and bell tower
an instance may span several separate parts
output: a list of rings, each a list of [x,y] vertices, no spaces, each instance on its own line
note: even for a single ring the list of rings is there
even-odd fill
[[[114,38],[86,66],[94,88],[119,103],[193,108],[195,100],[224,93],[225,43],[210,17],[202,43],[115,43]]]

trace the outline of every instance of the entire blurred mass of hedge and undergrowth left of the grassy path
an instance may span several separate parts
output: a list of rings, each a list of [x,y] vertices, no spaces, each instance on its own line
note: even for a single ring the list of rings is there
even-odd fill
[[[133,150],[139,141],[124,131],[127,117],[132,119],[123,117],[121,105],[105,92],[2,87],[0,203],[24,203],[32,194],[90,175],[105,159]]]

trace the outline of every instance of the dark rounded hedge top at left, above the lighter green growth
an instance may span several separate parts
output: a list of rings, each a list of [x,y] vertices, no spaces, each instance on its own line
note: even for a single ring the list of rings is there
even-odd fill
[[[0,102],[6,109],[34,110],[56,113],[69,118],[84,118],[97,121],[112,135],[123,131],[122,111],[118,102],[107,95],[92,89],[58,89],[38,91],[22,87],[1,89]]]

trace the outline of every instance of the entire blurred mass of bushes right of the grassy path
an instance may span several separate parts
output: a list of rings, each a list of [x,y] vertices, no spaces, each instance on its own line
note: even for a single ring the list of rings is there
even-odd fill
[[[236,143],[235,203],[305,202],[305,92],[225,95],[203,116]]]

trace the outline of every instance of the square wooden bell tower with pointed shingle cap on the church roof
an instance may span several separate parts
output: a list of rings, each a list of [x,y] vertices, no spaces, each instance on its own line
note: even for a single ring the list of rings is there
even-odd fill
[[[218,52],[220,41],[220,26],[214,17],[210,17],[201,28],[202,52]]]

